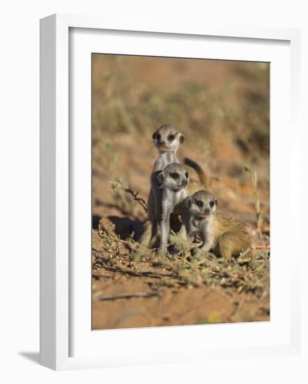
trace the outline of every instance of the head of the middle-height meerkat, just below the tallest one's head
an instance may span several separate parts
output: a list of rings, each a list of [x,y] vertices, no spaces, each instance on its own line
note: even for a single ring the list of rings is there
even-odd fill
[[[160,189],[167,188],[171,191],[178,192],[187,186],[189,175],[183,165],[171,163],[157,175],[157,179],[160,183]]]

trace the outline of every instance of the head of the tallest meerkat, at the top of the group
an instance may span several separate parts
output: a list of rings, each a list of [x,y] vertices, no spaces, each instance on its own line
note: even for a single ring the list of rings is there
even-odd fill
[[[153,133],[153,142],[159,152],[174,152],[183,143],[184,136],[176,126],[164,124]]]

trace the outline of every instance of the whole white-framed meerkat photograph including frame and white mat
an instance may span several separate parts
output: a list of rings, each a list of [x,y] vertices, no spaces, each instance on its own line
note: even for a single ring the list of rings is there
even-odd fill
[[[298,353],[300,32],[40,36],[41,364]]]

